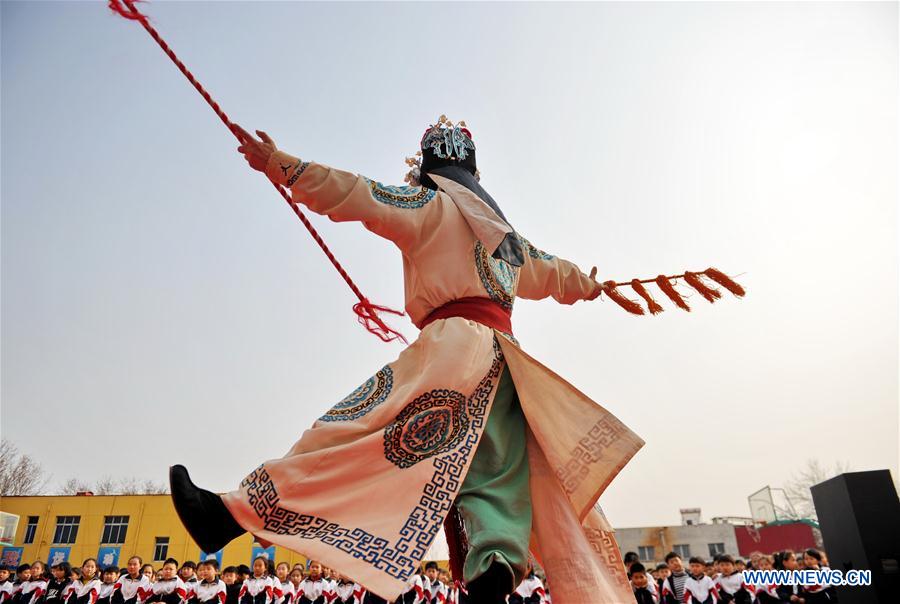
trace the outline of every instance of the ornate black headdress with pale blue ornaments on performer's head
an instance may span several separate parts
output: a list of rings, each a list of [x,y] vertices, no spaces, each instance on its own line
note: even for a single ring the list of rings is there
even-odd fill
[[[413,157],[406,158],[406,165],[411,170],[404,180],[410,185],[421,185],[423,158],[430,166],[463,166],[474,174],[476,180],[479,179],[480,174],[475,167],[475,143],[472,142],[472,132],[464,121],[454,124],[446,115],[441,115],[436,124],[425,130],[419,147]]]

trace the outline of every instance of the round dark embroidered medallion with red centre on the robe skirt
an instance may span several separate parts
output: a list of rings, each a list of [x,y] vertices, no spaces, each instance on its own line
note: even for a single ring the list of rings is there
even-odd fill
[[[406,405],[384,429],[384,456],[400,468],[456,447],[469,429],[466,397],[437,389]]]

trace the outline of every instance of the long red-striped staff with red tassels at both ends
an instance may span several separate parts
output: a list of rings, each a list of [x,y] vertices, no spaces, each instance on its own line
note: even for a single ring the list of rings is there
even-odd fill
[[[159,32],[150,25],[150,20],[146,15],[142,14],[137,7],[134,6],[135,2],[142,2],[143,0],[109,0],[109,8],[119,15],[120,17],[124,17],[125,19],[129,19],[131,21],[137,21],[140,23],[144,29],[150,34],[159,47],[162,48],[163,52],[172,59],[172,62],[175,63],[175,66],[178,67],[179,71],[184,74],[184,77],[188,79],[188,81],[194,86],[197,92],[203,97],[203,99],[209,104],[212,110],[219,116],[219,119],[222,120],[222,123],[231,131],[232,134],[240,141],[240,128],[237,124],[233,123],[225,112],[219,107],[219,104],[212,98],[212,95],[207,92],[206,88],[200,83],[200,81],[194,77],[194,74],[190,72],[190,70],[185,66],[185,64],[178,58],[178,55],[175,54],[175,51],[166,43],[166,41],[159,35]],[[243,142],[243,141],[241,141]],[[383,342],[392,342],[394,340],[402,340],[405,343],[406,338],[403,337],[399,331],[391,329],[388,325],[378,316],[379,312],[386,312],[394,315],[403,316],[403,312],[399,310],[393,310],[386,306],[378,306],[369,302],[369,299],[366,298],[353,280],[350,278],[350,275],[347,274],[347,271],[344,270],[344,267],[341,266],[341,263],[337,261],[337,258],[334,257],[334,254],[331,253],[331,250],[325,244],[325,241],[322,239],[322,236],[319,235],[318,231],[316,231],[315,227],[313,227],[312,223],[306,217],[306,215],[300,210],[298,205],[294,203],[294,200],[291,199],[290,194],[285,190],[284,187],[272,183],[278,192],[281,193],[282,198],[291,206],[291,209],[294,211],[294,214],[297,215],[297,218],[303,223],[303,226],[309,231],[309,234],[312,235],[313,239],[315,239],[316,243],[319,244],[319,247],[322,248],[322,251],[325,252],[325,255],[328,257],[328,260],[331,261],[331,264],[334,265],[334,268],[337,269],[338,273],[353,291],[357,298],[359,298],[359,302],[353,305],[353,312],[356,313],[356,316],[359,318],[359,322],[363,325],[370,333],[375,334]]]

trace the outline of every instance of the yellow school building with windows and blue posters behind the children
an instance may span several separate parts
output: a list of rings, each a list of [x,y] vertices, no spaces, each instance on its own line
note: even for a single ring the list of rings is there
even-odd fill
[[[3,497],[0,556],[7,565],[46,560],[80,566],[96,558],[100,566],[125,566],[133,555],[159,568],[166,558],[198,562],[200,551],[178,519],[169,495]],[[278,562],[306,563],[290,550],[263,549],[246,534],[214,554],[220,565],[251,565],[262,553]]]

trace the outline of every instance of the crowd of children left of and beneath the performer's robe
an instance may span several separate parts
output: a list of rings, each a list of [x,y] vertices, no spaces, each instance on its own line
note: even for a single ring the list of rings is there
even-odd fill
[[[10,576],[14,573],[14,576]],[[510,604],[550,602],[533,571],[509,598]],[[88,558],[80,568],[43,562],[0,567],[0,604],[388,604],[346,576],[317,561],[308,567],[275,564],[258,557],[252,568],[219,570],[215,558],[195,564],[166,560],[162,567],[132,556],[125,568],[100,569]],[[428,562],[409,580],[396,604],[470,604],[465,586]]]

